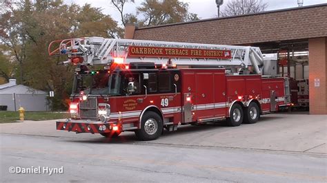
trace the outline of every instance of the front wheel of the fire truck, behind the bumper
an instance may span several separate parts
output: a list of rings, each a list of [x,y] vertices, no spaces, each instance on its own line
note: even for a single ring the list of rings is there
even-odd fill
[[[142,116],[141,129],[137,129],[135,135],[139,140],[155,140],[159,138],[163,129],[164,125],[159,114],[147,111]]]

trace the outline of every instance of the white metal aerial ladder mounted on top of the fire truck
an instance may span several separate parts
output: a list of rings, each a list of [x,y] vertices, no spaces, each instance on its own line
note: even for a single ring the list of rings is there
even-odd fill
[[[161,47],[197,50],[226,50],[228,58],[204,56],[130,56],[130,47]],[[105,39],[102,37],[83,37],[52,41],[48,47],[50,56],[66,54],[63,63],[80,65],[111,65],[114,62],[152,62],[156,65],[173,64],[191,67],[224,67],[236,74],[263,74],[264,56],[259,47],[237,45],[212,45],[201,43],[179,43],[166,41],[146,41],[135,39]]]

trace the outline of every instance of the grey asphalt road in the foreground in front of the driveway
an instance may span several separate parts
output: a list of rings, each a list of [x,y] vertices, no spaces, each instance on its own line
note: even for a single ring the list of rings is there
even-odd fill
[[[326,155],[0,134],[1,182],[326,182]],[[15,173],[12,167],[41,167]],[[46,169],[63,169],[49,174]],[[11,170],[11,171],[10,171]],[[10,173],[10,172],[11,173]]]

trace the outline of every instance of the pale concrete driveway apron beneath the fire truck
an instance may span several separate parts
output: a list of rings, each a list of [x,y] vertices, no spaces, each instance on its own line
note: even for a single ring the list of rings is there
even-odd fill
[[[99,134],[57,131],[55,120],[1,124],[0,133],[90,140],[99,138]],[[117,142],[119,141],[135,142],[136,139],[134,133],[123,132]],[[141,143],[326,154],[326,142],[326,115],[282,113],[261,116],[256,124],[239,127],[225,127],[221,123],[181,126],[175,132],[165,131],[163,136],[157,140]]]

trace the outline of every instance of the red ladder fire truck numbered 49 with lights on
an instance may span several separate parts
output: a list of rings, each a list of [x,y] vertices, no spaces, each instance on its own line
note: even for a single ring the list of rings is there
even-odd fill
[[[48,52],[77,65],[71,118],[58,130],[155,140],[179,125],[255,123],[290,103],[287,78],[258,47],[88,37]]]

